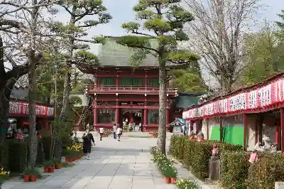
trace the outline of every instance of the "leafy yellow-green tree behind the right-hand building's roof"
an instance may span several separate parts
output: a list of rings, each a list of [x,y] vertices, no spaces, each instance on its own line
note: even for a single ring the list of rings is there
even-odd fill
[[[284,25],[281,22],[276,23],[279,26],[277,31],[266,23],[261,31],[247,34],[244,38],[243,50],[246,67],[241,75],[242,85],[253,85],[284,70],[282,36]]]

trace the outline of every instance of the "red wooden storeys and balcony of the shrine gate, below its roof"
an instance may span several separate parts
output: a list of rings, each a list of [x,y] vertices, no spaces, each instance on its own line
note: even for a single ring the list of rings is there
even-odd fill
[[[86,87],[86,95],[93,99],[94,129],[114,124],[122,126],[123,119],[133,118],[143,124],[144,131],[158,129],[158,68],[95,68],[94,85]],[[166,126],[170,116],[170,99],[178,95],[176,89],[167,88]]]

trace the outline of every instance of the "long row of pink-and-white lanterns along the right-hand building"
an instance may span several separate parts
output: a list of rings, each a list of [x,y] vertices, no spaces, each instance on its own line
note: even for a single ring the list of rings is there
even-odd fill
[[[195,119],[199,117],[211,117],[216,114],[233,114],[241,111],[253,111],[256,109],[271,107],[284,102],[284,79],[277,80],[268,85],[249,92],[217,99],[201,107],[192,108],[182,112],[183,119]]]

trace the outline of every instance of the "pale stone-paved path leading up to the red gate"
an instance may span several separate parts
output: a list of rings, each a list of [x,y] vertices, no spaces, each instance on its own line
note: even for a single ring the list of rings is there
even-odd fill
[[[23,183],[12,179],[2,189],[172,189],[151,162],[149,147],[153,138],[122,137],[121,141],[95,137],[91,160],[80,160],[76,166],[62,168],[44,180]],[[143,150],[143,151],[142,151]]]

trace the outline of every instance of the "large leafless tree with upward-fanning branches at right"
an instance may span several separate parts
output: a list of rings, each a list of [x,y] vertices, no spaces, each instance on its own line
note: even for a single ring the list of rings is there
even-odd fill
[[[234,90],[244,68],[242,37],[259,6],[258,0],[185,0],[185,9],[195,15],[187,28],[190,48],[202,55],[202,64],[222,95]]]

